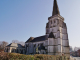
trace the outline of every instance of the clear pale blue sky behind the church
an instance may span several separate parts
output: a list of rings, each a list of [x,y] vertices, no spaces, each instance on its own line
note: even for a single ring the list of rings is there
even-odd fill
[[[67,24],[69,44],[80,47],[80,0],[57,0]],[[0,0],[0,41],[25,42],[45,35],[53,0]]]

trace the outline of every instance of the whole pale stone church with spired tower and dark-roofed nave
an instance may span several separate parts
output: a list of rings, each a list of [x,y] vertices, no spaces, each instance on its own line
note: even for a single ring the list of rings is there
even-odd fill
[[[24,48],[22,48],[24,50]],[[25,54],[49,54],[70,56],[67,26],[54,0],[52,16],[46,24],[46,34],[30,37],[25,42]]]

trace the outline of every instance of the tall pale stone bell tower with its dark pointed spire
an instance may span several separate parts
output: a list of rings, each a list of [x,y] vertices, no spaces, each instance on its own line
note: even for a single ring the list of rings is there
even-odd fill
[[[54,38],[49,37],[52,33]],[[56,0],[54,0],[52,16],[48,18],[48,23],[46,24],[46,39],[49,44],[53,42],[53,45],[48,44],[48,54],[53,51],[52,53],[54,55],[70,57],[67,26],[64,18],[60,15]],[[50,55],[52,55],[52,53]]]

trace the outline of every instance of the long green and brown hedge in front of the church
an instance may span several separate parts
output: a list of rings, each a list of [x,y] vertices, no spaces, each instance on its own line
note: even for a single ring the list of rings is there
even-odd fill
[[[65,56],[58,55],[45,55],[45,54],[35,54],[35,55],[24,55],[18,53],[0,53],[1,60],[67,60]]]

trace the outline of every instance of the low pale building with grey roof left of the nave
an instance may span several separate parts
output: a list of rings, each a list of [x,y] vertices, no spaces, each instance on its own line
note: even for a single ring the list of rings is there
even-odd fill
[[[25,47],[21,44],[11,43],[5,47],[5,52],[25,54]]]

